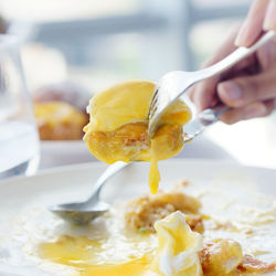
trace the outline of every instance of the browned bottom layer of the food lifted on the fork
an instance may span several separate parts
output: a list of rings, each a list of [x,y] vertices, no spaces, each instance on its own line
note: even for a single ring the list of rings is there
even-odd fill
[[[174,150],[179,145],[179,137],[182,128],[173,125],[163,125],[156,131],[156,139],[166,145],[167,149]],[[87,136],[87,135],[86,135]],[[106,162],[113,163],[116,160],[129,162],[129,160],[142,160],[149,155],[148,125],[145,123],[126,124],[113,131],[93,131],[89,132],[88,144],[93,146],[94,153],[100,152]],[[139,157],[137,156],[139,149]],[[161,153],[160,148],[158,156],[164,159],[166,153]],[[167,152],[167,150],[163,150]]]

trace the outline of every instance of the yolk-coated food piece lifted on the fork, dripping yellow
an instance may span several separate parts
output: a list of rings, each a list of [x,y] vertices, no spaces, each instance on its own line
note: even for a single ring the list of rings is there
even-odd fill
[[[94,96],[88,106],[91,121],[84,128],[84,140],[89,151],[107,163],[150,161],[150,191],[156,193],[160,181],[157,162],[182,149],[182,127],[191,119],[191,112],[178,99],[163,114],[155,136],[149,139],[148,112],[153,91],[151,82],[132,81]]]

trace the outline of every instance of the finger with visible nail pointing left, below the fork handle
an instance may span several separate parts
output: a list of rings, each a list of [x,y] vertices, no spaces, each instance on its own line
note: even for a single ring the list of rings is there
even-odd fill
[[[217,85],[220,99],[231,107],[276,98],[276,70],[254,76],[236,77]]]

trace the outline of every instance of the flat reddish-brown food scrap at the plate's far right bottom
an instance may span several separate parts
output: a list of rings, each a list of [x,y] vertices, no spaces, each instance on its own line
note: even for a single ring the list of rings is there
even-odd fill
[[[245,255],[243,263],[238,266],[241,272],[250,273],[269,273],[276,272],[276,263],[267,264],[254,258],[253,256]]]

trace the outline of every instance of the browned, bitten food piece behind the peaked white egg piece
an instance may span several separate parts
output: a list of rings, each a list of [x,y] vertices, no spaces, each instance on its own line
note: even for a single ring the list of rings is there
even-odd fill
[[[167,215],[181,211],[193,231],[203,233],[201,203],[182,192],[158,192],[131,200],[127,204],[126,222],[136,230],[155,231],[153,224]]]

